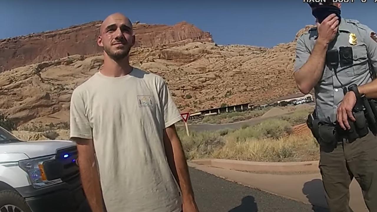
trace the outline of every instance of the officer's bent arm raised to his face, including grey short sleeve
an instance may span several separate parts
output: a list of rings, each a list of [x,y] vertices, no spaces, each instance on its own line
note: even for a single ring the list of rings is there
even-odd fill
[[[335,14],[329,15],[320,25],[317,23],[318,38],[311,54],[305,43],[297,40],[296,67],[300,68],[294,72],[294,79],[303,94],[308,94],[322,76],[328,44],[336,35],[338,23]]]

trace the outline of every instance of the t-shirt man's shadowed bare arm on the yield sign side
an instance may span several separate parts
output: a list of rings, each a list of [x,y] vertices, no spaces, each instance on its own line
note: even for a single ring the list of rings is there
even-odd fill
[[[169,166],[182,190],[184,207],[190,207],[190,211],[198,211],[186,157],[174,124],[165,129],[164,144]]]

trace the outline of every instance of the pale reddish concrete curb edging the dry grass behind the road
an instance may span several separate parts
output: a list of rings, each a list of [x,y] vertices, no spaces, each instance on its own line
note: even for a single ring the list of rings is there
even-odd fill
[[[318,172],[319,161],[303,162],[254,162],[225,159],[201,159],[192,163],[204,166],[249,172]]]

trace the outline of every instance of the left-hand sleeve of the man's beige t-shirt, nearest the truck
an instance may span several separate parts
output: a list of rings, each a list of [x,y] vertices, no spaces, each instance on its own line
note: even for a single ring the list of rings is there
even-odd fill
[[[73,137],[92,139],[92,128],[85,109],[84,98],[78,90],[72,92],[70,100],[70,139]]]

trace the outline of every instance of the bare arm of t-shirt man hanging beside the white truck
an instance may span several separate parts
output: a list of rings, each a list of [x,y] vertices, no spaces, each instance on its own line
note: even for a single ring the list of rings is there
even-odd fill
[[[92,212],[106,212],[92,139],[72,137],[77,143],[81,183]]]

